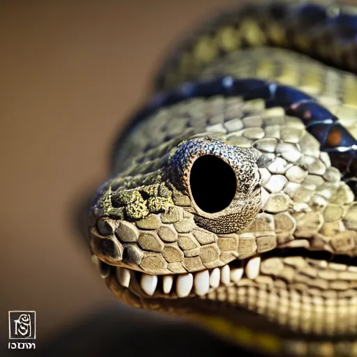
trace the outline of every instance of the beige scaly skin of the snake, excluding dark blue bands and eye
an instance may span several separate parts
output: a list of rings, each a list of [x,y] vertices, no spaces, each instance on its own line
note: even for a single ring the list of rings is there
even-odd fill
[[[167,70],[165,86],[217,75],[278,81],[317,98],[357,137],[356,75],[266,47],[271,38],[287,47],[283,29],[269,26],[266,15],[239,24],[192,36],[194,45]],[[241,49],[242,39],[252,48]],[[309,47],[306,38],[296,43]],[[218,48],[227,53],[218,58]],[[340,47],[331,48],[338,57]],[[223,227],[217,233],[204,225],[190,192],[167,175],[178,145],[196,137],[266,158],[266,165],[255,167],[263,208],[239,231]],[[268,354],[357,356],[357,266],[274,254],[357,252],[354,193],[299,119],[266,109],[263,100],[193,98],[158,110],[124,140],[116,175],[100,188],[89,220],[93,262],[118,298],[188,314]]]

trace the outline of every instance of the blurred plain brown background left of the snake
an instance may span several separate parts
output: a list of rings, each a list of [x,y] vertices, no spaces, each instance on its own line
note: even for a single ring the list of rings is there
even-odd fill
[[[36,310],[37,342],[118,305],[70,215],[168,48],[229,0],[0,2],[0,341]]]

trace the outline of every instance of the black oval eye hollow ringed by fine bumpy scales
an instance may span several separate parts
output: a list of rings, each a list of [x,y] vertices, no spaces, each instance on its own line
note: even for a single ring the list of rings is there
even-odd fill
[[[206,213],[227,208],[236,195],[236,174],[227,162],[214,155],[202,155],[190,171],[190,188],[197,206]]]

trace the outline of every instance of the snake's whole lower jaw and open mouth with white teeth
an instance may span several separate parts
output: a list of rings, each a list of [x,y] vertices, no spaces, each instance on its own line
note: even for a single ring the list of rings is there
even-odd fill
[[[277,248],[196,273],[149,275],[108,267],[109,289],[136,307],[219,315],[230,324],[274,328],[289,338],[356,335],[356,257]]]

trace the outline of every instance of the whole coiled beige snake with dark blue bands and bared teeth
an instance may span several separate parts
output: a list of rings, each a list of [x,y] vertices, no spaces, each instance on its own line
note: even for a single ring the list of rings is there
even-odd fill
[[[353,3],[252,1],[183,35],[93,192],[114,296],[267,356],[357,356],[356,74]]]

